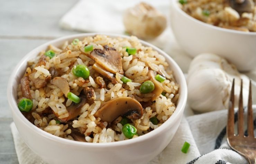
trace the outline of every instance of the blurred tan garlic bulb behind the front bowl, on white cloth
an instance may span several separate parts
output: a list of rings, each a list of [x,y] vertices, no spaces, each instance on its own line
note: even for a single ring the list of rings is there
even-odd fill
[[[137,4],[124,12],[126,31],[141,39],[153,39],[166,28],[166,18],[154,7],[145,2]]]

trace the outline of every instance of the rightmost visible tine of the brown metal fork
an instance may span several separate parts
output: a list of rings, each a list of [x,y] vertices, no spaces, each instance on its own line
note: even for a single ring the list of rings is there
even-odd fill
[[[254,137],[253,132],[253,108],[252,108],[252,82],[249,85],[249,98],[248,98],[248,115],[247,115],[247,131],[249,137]]]

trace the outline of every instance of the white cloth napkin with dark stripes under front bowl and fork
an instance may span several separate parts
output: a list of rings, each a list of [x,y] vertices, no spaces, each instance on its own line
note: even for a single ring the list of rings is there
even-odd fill
[[[148,164],[247,164],[244,157],[229,150],[226,124],[227,110],[183,117],[172,141]],[[46,164],[25,144],[14,123],[11,132],[20,164]],[[191,144],[186,154],[181,152],[185,141]]]

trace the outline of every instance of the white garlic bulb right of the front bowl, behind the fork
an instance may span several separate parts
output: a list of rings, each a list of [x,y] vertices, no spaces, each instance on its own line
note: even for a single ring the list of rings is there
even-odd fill
[[[249,78],[240,74],[227,60],[211,53],[196,56],[188,72],[188,102],[198,112],[227,109],[235,78],[235,104],[238,104],[243,79],[243,100],[248,101]]]

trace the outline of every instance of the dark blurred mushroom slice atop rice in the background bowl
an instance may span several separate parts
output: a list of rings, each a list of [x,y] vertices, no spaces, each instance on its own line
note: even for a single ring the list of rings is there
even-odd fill
[[[230,3],[230,7],[236,10],[240,14],[244,12],[254,11],[253,0],[229,0],[229,3]]]

